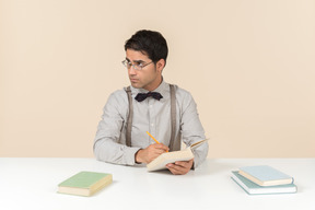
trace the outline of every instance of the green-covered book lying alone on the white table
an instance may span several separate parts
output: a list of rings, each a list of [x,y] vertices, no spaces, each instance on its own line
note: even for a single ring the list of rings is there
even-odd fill
[[[58,185],[58,192],[77,196],[92,196],[113,183],[112,174],[80,172]]]

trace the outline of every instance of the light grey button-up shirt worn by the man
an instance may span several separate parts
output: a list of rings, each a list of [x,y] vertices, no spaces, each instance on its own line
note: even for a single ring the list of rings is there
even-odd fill
[[[199,120],[196,103],[191,94],[175,85],[176,91],[176,139],[190,145],[205,139],[205,131]],[[135,165],[135,154],[154,141],[168,145],[171,140],[171,94],[170,84],[162,82],[154,92],[163,95],[160,101],[148,97],[142,102],[135,100],[138,93],[148,93],[144,89],[131,86],[133,118],[131,128],[131,147],[126,145],[127,117],[129,113],[128,96],[125,90],[110,94],[103,109],[94,140],[94,154],[97,160],[108,163]],[[195,168],[207,158],[208,143],[194,150]]]

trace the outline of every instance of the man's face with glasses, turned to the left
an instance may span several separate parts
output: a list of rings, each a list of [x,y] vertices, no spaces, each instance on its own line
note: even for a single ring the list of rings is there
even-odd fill
[[[126,60],[130,61],[132,65],[142,63],[145,66],[141,70],[135,70],[133,67],[128,69],[128,75],[130,83],[136,89],[145,89],[148,91],[153,91],[162,82],[162,70],[164,67],[164,60],[161,59],[154,65],[152,60],[141,51],[136,51],[132,49],[126,50]],[[151,62],[151,63],[150,63]]]

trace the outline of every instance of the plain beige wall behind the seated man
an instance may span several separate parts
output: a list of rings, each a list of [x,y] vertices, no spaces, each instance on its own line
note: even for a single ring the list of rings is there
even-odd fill
[[[93,156],[141,28],[167,39],[210,158],[315,156],[314,0],[0,0],[0,156]]]

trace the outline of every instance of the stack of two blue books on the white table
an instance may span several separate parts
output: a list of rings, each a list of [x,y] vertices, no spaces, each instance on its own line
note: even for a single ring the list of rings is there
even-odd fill
[[[231,178],[249,195],[298,191],[293,177],[268,165],[240,167],[232,171]]]

